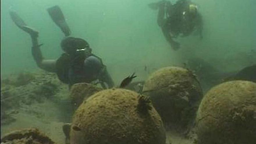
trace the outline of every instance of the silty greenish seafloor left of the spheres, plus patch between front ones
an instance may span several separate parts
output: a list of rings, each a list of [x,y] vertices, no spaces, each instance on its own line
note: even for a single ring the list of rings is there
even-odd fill
[[[74,104],[68,86],[52,73],[22,72],[1,78],[1,137],[11,131],[37,128],[55,143],[64,144],[62,125],[70,122]],[[191,144],[184,137],[166,129],[166,143]]]

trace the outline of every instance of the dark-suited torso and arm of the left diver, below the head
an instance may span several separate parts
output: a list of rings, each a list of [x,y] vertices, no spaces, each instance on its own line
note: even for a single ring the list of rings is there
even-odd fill
[[[75,83],[90,83],[99,80],[104,88],[113,87],[113,80],[102,63],[101,58],[94,54],[72,57],[66,53],[62,54],[56,61],[56,73],[58,78],[72,86]]]

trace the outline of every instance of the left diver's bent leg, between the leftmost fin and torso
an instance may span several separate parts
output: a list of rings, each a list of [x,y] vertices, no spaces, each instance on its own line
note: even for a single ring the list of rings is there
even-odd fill
[[[40,50],[40,46],[38,45],[38,35],[32,35],[32,56],[37,64],[38,67],[40,67],[43,70],[46,70],[48,72],[56,72],[56,60],[44,60],[42,57],[42,52]]]

